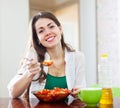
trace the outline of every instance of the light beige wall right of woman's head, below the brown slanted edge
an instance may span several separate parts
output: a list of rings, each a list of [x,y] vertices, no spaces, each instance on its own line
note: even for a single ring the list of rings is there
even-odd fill
[[[79,50],[79,4],[73,4],[54,11],[63,26],[64,37],[75,49]]]

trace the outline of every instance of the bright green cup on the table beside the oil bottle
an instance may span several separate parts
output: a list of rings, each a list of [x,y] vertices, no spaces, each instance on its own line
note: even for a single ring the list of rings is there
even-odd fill
[[[87,106],[97,106],[102,96],[102,88],[82,88],[78,93],[78,98],[85,102]]]

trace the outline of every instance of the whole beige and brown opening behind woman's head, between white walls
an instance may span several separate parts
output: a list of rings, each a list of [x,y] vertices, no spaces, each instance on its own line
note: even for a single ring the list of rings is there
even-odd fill
[[[30,0],[30,16],[38,13],[39,10],[53,12],[61,21],[65,41],[79,50],[79,0],[51,0],[50,3],[48,2],[49,0]],[[73,35],[74,39],[72,39]]]

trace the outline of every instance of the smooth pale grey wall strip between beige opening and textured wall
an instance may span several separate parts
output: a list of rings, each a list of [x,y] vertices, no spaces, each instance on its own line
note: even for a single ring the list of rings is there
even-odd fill
[[[86,58],[87,86],[97,81],[96,0],[80,0],[80,46]]]

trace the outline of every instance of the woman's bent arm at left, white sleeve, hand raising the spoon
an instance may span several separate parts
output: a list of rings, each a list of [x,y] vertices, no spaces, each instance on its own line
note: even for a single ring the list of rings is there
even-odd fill
[[[8,84],[9,94],[12,98],[21,96],[28,88],[33,77],[41,70],[40,63],[38,63],[36,60],[31,60],[30,63],[26,65],[26,68],[27,69],[22,69],[24,70],[23,74],[19,73]]]

